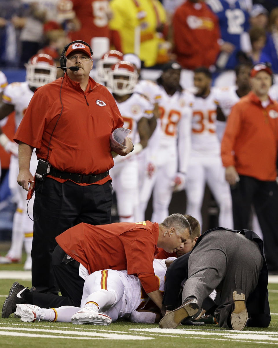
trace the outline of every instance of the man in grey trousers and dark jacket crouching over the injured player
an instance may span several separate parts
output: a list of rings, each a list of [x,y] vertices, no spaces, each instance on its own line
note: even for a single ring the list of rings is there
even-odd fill
[[[182,280],[186,280],[183,304],[174,309]],[[267,327],[271,320],[267,284],[263,241],[253,231],[223,227],[206,231],[191,253],[175,260],[166,273],[167,311],[159,326],[174,328],[185,318],[195,318],[199,309],[212,307],[220,327],[242,330],[248,317],[248,326]],[[217,305],[207,299],[214,289],[220,291]]]

